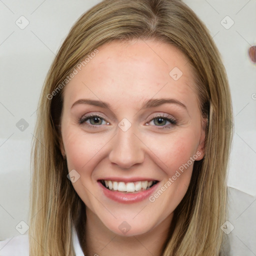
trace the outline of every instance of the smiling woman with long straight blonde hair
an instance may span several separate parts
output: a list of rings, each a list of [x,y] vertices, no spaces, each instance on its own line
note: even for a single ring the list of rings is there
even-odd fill
[[[29,255],[224,255],[230,92],[184,3],[92,7],[39,106]]]

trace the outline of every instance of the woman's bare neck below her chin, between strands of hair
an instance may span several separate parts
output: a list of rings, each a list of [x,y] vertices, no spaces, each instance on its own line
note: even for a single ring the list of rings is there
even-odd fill
[[[160,256],[168,238],[173,213],[146,233],[121,236],[109,230],[100,219],[86,208],[84,255],[95,256]]]

